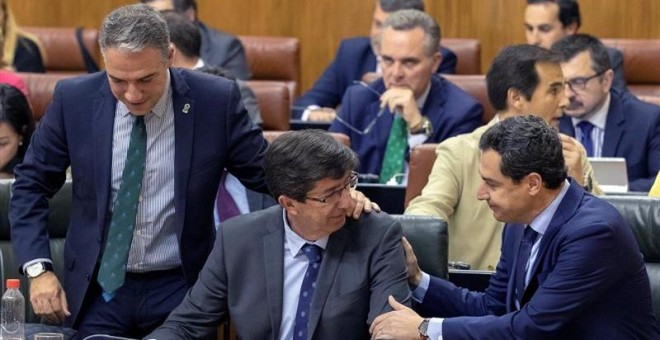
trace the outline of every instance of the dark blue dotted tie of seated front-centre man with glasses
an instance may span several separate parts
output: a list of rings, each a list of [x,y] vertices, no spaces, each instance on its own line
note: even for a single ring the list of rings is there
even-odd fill
[[[315,244],[305,244],[302,248],[307,255],[309,264],[305,272],[303,284],[300,287],[300,298],[298,299],[298,310],[296,310],[296,321],[293,327],[293,338],[307,339],[307,322],[309,321],[309,309],[312,306],[312,297],[316,288],[316,277],[319,275],[323,249]]]

